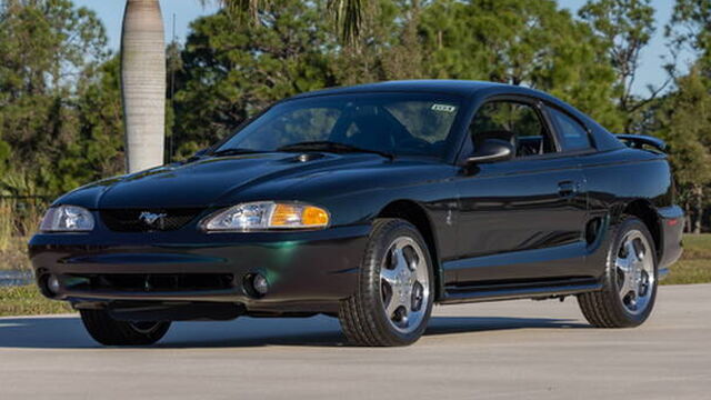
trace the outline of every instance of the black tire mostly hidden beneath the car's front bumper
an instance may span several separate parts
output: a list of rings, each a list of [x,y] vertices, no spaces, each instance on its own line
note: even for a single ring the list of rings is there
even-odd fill
[[[149,346],[166,336],[170,322],[126,322],[106,310],[80,310],[89,334],[103,346]]]

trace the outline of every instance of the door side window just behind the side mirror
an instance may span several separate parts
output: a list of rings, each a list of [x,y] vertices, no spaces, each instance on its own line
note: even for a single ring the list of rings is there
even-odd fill
[[[555,152],[550,132],[533,107],[513,101],[483,104],[470,126],[474,149],[487,139],[511,142],[517,157]]]

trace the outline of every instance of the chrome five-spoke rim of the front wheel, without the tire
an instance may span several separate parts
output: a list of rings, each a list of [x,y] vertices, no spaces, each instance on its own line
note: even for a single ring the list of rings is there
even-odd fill
[[[430,299],[428,268],[424,251],[408,237],[390,244],[380,266],[383,310],[402,333],[414,331],[424,318]]]

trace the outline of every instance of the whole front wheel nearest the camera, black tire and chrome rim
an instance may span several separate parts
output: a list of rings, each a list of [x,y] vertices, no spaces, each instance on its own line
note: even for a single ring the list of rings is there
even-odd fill
[[[432,312],[433,282],[432,260],[417,228],[400,219],[375,220],[358,292],[339,310],[346,337],[359,346],[415,342]]]

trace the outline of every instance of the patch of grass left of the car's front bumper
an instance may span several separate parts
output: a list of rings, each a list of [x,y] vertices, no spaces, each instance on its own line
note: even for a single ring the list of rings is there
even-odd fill
[[[72,312],[63,301],[46,299],[34,286],[0,288],[0,317]]]

